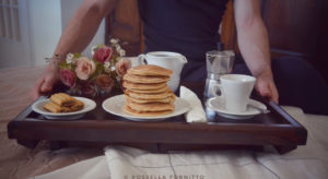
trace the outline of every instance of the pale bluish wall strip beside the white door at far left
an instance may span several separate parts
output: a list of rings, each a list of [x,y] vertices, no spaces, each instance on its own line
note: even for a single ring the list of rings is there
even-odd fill
[[[31,52],[34,65],[46,64],[61,35],[60,0],[28,0]]]

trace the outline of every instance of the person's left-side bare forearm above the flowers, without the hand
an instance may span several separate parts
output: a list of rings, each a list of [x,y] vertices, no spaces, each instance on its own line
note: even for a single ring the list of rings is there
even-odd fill
[[[68,52],[81,52],[94,37],[103,17],[109,13],[116,0],[86,0],[66,26],[54,56],[62,60]]]

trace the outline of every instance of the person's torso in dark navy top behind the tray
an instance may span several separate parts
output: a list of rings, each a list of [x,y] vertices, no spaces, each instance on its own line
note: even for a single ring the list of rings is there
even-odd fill
[[[139,0],[147,51],[168,50],[204,57],[220,40],[227,0]]]

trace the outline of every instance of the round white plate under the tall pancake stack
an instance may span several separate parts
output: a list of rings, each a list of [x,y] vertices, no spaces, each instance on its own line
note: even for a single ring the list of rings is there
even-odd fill
[[[156,117],[138,117],[138,116],[126,114],[122,110],[122,107],[125,106],[125,102],[126,98],[124,95],[113,96],[103,102],[103,109],[109,114],[120,116],[133,121],[161,121],[171,117],[183,115],[186,111],[188,111],[190,108],[189,104],[185,99],[177,97],[174,103],[175,110],[172,114],[156,116]]]

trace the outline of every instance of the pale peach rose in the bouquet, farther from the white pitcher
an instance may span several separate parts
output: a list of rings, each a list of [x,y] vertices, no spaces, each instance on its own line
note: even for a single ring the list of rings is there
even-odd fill
[[[87,80],[96,70],[96,65],[93,61],[86,57],[80,57],[77,62],[77,76],[80,80]]]

